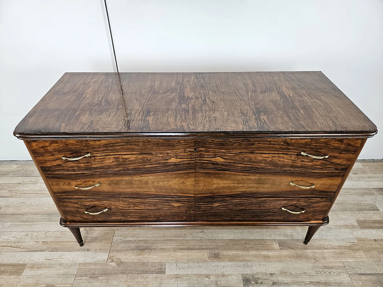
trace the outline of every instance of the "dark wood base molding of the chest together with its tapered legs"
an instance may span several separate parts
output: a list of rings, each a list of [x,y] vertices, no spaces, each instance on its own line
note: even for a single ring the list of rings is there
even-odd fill
[[[80,233],[80,227],[178,227],[178,226],[241,226],[241,225],[300,225],[308,226],[304,244],[311,240],[319,227],[329,224],[329,217],[326,216],[322,221],[309,222],[206,222],[206,221],[185,221],[185,222],[68,222],[60,218],[60,225],[68,227],[75,236],[80,246],[83,246],[83,240]]]

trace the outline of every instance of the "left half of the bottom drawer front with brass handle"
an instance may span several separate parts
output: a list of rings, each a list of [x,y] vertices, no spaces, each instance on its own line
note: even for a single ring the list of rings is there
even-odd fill
[[[100,221],[191,221],[194,198],[58,199],[65,219]],[[88,213],[85,213],[87,211]]]

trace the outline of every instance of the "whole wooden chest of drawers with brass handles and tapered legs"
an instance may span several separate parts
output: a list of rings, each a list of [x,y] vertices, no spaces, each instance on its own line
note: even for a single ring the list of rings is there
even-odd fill
[[[65,73],[18,124],[79,227],[307,225],[376,126],[321,72]]]

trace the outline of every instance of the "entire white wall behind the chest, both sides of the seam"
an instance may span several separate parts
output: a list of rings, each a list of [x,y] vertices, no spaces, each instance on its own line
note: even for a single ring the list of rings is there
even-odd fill
[[[0,2],[0,160],[64,72],[113,71],[103,1]],[[321,70],[383,126],[381,0],[111,0],[120,72]],[[383,135],[360,158],[383,158]]]

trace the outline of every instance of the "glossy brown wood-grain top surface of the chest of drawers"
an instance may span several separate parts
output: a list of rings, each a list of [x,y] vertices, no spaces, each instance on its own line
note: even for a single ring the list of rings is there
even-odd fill
[[[15,135],[375,134],[322,72],[65,73]]]

